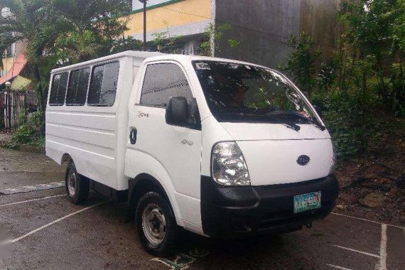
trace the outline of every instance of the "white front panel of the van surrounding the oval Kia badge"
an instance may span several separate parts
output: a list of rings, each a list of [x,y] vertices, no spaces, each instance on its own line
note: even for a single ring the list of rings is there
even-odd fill
[[[330,139],[237,141],[237,144],[246,160],[252,185],[318,179],[328,175],[332,166]],[[304,153],[311,156],[311,161],[300,166],[296,159]]]

